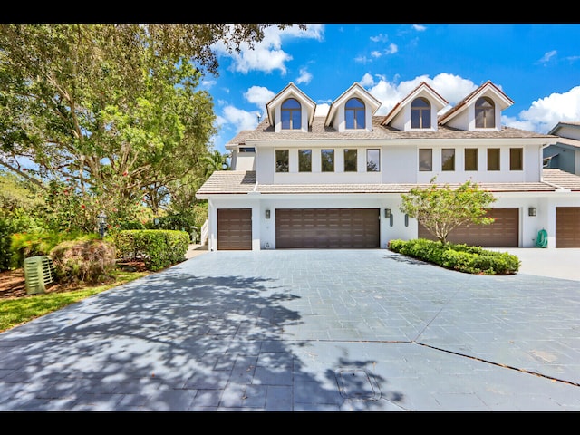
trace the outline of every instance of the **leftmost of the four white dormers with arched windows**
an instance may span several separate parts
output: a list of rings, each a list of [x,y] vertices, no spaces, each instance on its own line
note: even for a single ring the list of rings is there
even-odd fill
[[[307,132],[314,119],[316,103],[290,82],[266,104],[270,125],[274,131]]]

